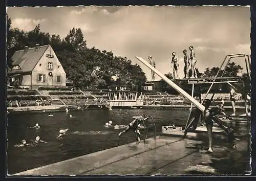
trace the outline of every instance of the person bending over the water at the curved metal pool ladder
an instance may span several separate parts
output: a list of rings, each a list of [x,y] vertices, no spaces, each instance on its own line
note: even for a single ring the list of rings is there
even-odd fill
[[[140,116],[139,118],[135,118],[122,132],[118,134],[118,137],[120,137],[123,133],[126,133],[130,129],[134,130],[136,133],[136,140],[139,142],[141,137],[140,137],[140,131],[139,129],[144,129],[143,120],[147,120],[149,117],[145,118],[145,115]],[[138,125],[138,127],[137,127]]]

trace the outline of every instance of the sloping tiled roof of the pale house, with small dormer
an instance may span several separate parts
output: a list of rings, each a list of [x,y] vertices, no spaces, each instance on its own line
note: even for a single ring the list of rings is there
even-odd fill
[[[19,65],[21,70],[11,70],[8,73],[32,71],[49,46],[49,44],[40,46],[38,50],[36,48],[29,48],[27,51],[16,51],[12,56],[12,65]]]

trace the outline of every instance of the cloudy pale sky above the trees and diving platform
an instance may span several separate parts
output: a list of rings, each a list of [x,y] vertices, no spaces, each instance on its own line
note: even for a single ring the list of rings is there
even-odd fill
[[[147,60],[152,55],[156,69],[172,73],[172,52],[183,73],[183,50],[194,46],[197,67],[220,66],[225,55],[250,55],[250,8],[241,6],[79,6],[79,7],[8,7],[12,28],[67,36],[75,27],[82,30],[89,48],[112,51],[139,64],[151,79],[151,71],[135,56]],[[234,62],[244,67],[243,58]],[[156,80],[160,78],[157,76]]]

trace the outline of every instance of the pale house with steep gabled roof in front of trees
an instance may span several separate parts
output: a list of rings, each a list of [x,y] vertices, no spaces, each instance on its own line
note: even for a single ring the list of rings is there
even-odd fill
[[[10,82],[16,86],[66,86],[66,73],[50,44],[34,48],[25,47],[12,56]]]

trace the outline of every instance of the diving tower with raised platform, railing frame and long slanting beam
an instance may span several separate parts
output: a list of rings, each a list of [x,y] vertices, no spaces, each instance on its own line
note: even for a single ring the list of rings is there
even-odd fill
[[[239,87],[235,87],[233,86],[231,83],[236,83],[239,81],[243,81],[244,85],[245,85],[245,78],[243,77],[223,77],[224,72],[226,70],[226,67],[228,65],[228,63],[230,62],[230,60],[232,58],[237,58],[237,57],[244,57],[245,59],[245,64],[246,64],[246,71],[247,74],[250,78],[250,58],[248,55],[246,54],[231,54],[231,55],[226,55],[222,65],[217,73],[217,75],[215,77],[203,77],[203,78],[186,78],[186,79],[168,79],[165,75],[163,75],[162,73],[160,73],[158,70],[155,69],[155,67],[153,67],[152,65],[150,65],[147,61],[145,61],[143,58],[141,57],[137,57],[135,56],[140,62],[142,62],[144,65],[146,65],[149,69],[151,69],[153,72],[155,72],[160,78],[162,78],[162,80],[160,81],[165,81],[167,84],[169,84],[170,86],[172,86],[174,89],[177,90],[177,92],[179,92],[182,96],[184,96],[185,98],[187,98],[190,102],[191,102],[191,109],[190,109],[190,113],[189,113],[189,117],[187,120],[187,124],[185,126],[185,128],[178,128],[180,132],[183,132],[184,136],[186,136],[187,132],[190,131],[192,128],[192,131],[196,131],[197,129],[197,124],[199,121],[199,118],[202,114],[202,112],[204,111],[205,107],[202,105],[203,101],[200,97],[200,102],[198,102],[195,98],[194,98],[194,87],[195,84],[210,84],[210,87],[207,90],[206,96],[209,94],[210,89],[212,88],[212,86],[215,83],[227,83],[229,84],[231,87],[233,87],[236,90],[239,90]],[[219,74],[221,73],[221,76],[219,76]],[[191,96],[186,93],[181,87],[179,87],[175,82],[177,81],[187,81],[188,84],[192,85],[192,93]],[[158,82],[158,81],[148,81],[147,83],[154,83],[154,82]],[[245,87],[245,86],[244,86]],[[250,97],[250,94],[248,93],[248,90],[244,90],[245,95],[245,109],[246,109],[246,114],[245,114],[245,118],[247,119],[248,125],[250,122],[250,114],[247,110],[248,106],[247,106],[247,99],[246,96],[248,95]],[[200,94],[201,95],[201,94]],[[215,94],[212,95],[211,100],[213,99]],[[205,99],[204,98],[204,99]],[[195,105],[197,107],[197,109],[194,109],[194,114],[192,114],[193,111],[193,105]],[[195,116],[196,115],[196,116]],[[221,127],[221,129],[223,130],[223,132],[225,132],[228,135],[229,140],[233,139],[233,133],[234,130],[232,129],[232,127],[229,126],[229,124],[227,124],[227,122],[225,122],[225,119],[220,119],[217,116],[212,116],[212,120],[214,120],[215,123],[217,123],[219,125],[219,127]],[[192,126],[192,127],[191,127]],[[164,126],[163,126],[164,127]],[[169,127],[171,132],[173,130],[175,130],[177,127],[175,126],[170,126]],[[164,130],[165,128],[163,128]],[[205,130],[206,131],[206,130]]]

